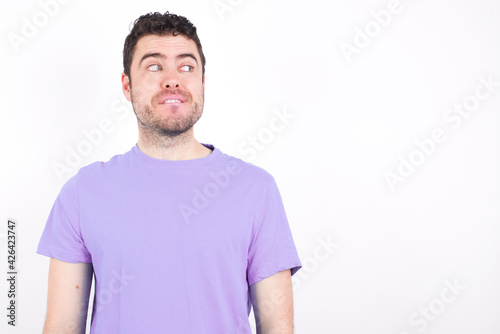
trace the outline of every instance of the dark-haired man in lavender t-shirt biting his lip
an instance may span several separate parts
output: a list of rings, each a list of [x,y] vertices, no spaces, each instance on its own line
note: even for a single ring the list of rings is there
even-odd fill
[[[122,88],[137,116],[128,152],[61,189],[37,252],[51,257],[44,333],[293,333],[300,269],[272,176],[194,138],[205,57],[170,13],[136,20]]]

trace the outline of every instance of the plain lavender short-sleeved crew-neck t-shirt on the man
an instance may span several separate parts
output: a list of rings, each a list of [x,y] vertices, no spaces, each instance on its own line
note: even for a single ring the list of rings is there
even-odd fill
[[[62,187],[37,253],[93,264],[91,333],[250,334],[249,286],[301,267],[274,178],[204,145],[136,145]]]

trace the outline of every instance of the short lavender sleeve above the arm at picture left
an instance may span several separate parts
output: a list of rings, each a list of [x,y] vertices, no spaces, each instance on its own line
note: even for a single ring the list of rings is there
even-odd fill
[[[37,253],[71,263],[91,263],[80,230],[78,174],[69,179],[56,198],[45,224]]]

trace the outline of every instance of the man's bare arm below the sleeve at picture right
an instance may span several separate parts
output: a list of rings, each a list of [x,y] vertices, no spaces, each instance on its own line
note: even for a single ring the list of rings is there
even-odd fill
[[[293,333],[293,290],[290,269],[250,286],[257,334]]]

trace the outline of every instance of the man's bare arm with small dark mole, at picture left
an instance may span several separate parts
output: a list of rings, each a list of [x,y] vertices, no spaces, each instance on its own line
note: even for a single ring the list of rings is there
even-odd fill
[[[91,263],[50,259],[47,317],[43,334],[84,334],[93,268]]]

